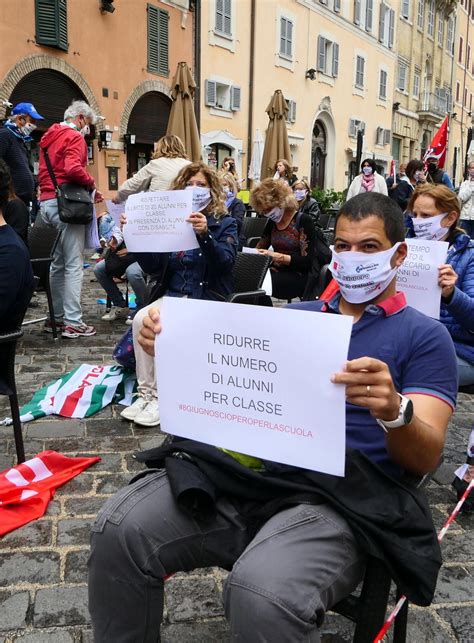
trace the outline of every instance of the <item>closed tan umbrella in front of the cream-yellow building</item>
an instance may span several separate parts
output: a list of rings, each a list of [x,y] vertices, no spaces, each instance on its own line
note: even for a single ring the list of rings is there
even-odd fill
[[[274,167],[278,159],[286,159],[291,165],[290,144],[288,142],[288,132],[286,131],[288,104],[281,89],[275,91],[265,111],[270,120],[263,150],[262,179],[274,175]]]

